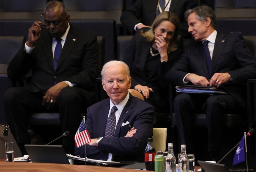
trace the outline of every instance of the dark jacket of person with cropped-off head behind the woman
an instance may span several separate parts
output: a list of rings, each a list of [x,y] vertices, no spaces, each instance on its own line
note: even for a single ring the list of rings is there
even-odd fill
[[[132,33],[134,26],[138,23],[143,23],[146,26],[151,26],[156,18],[156,7],[158,0],[137,0],[128,9],[123,11],[120,21],[124,23],[128,30]],[[174,12],[180,19],[180,34],[184,37],[188,34],[187,21],[184,19],[184,12],[198,5],[197,0],[172,0],[170,12]]]

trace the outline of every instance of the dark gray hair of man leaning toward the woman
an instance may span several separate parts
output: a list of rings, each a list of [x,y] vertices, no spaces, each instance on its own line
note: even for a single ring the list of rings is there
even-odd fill
[[[204,5],[204,6],[195,7],[193,9],[189,9],[184,14],[185,19],[187,20],[188,16],[193,12],[196,13],[196,19],[200,20],[202,23],[206,20],[206,17],[209,17],[211,19],[212,27],[216,30],[217,28],[216,16],[211,7]]]

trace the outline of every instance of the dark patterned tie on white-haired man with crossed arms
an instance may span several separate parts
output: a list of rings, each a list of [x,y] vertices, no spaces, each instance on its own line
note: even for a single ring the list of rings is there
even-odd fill
[[[110,115],[108,116],[108,122],[107,122],[104,137],[110,137],[110,138],[114,137],[115,129],[116,129],[116,115],[115,115],[115,112],[117,110],[118,109],[116,108],[116,106],[113,106],[111,111],[110,111]]]

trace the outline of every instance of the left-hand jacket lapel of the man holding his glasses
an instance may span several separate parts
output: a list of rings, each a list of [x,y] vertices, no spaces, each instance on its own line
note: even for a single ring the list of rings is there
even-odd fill
[[[51,67],[52,71],[54,72],[54,67],[53,67],[53,55],[52,55],[52,37],[50,34],[47,32],[45,36],[43,37],[42,47],[44,51],[44,57],[46,58],[46,61],[48,62],[49,66]]]

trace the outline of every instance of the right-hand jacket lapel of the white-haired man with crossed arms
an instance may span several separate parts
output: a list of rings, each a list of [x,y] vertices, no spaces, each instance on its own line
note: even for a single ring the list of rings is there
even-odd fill
[[[130,93],[129,93],[130,94]],[[118,137],[120,133],[120,129],[122,126],[122,123],[124,122],[124,119],[127,115],[131,112],[131,109],[134,107],[134,97],[130,94],[129,100],[127,101],[126,105],[124,106],[124,109],[119,117],[119,120],[116,124],[116,130],[115,130],[115,136]],[[130,121],[129,121],[130,122]]]

